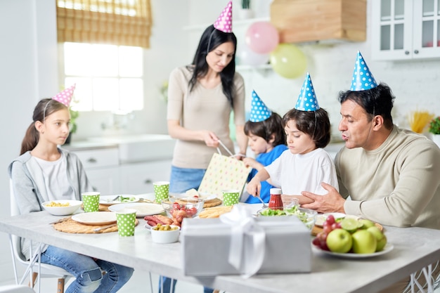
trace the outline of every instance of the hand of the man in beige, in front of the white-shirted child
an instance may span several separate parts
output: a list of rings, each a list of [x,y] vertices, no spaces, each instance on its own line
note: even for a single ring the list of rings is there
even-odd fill
[[[328,191],[326,195],[316,195],[303,191],[301,194],[309,197],[314,202],[310,204],[302,204],[305,209],[316,209],[320,213],[339,212],[344,213],[344,198],[337,192],[336,188],[327,183],[321,183],[323,188]]]

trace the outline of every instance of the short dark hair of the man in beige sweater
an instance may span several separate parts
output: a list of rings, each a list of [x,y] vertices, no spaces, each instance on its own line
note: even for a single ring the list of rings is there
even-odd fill
[[[338,100],[341,104],[346,100],[352,100],[365,110],[370,119],[373,119],[375,115],[382,116],[385,128],[392,129],[393,117],[391,110],[395,98],[389,86],[380,83],[375,88],[365,91],[341,91]]]

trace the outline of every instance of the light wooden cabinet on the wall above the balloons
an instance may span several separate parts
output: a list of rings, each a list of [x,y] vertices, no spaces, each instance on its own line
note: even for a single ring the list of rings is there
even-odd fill
[[[271,22],[280,43],[365,41],[366,6],[366,0],[273,0]]]

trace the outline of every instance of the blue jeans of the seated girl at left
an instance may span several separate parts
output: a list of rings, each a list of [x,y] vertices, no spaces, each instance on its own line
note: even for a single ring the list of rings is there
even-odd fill
[[[133,275],[133,268],[93,260],[90,256],[49,246],[41,262],[64,268],[75,277],[65,293],[117,292]],[[105,272],[105,273],[103,273]]]

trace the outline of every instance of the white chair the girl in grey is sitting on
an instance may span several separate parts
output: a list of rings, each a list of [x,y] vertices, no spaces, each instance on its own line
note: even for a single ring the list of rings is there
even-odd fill
[[[12,180],[9,181],[10,197],[11,197],[11,216],[19,214],[17,203],[15,202],[15,196],[13,193]],[[34,253],[32,261],[25,259],[25,256],[21,253],[21,241],[17,235],[9,235],[9,242],[11,244],[12,263],[14,268],[15,283],[22,285],[28,275],[32,275],[30,281],[30,287],[34,287],[35,282],[38,281],[38,292],[40,292],[40,279],[41,278],[58,278],[57,293],[64,292],[64,284],[69,278],[73,277],[69,272],[58,266],[52,266],[47,263],[39,262],[39,254]],[[16,261],[26,266],[26,271],[23,274],[21,280],[18,280],[18,271]],[[1,291],[0,291],[1,292]],[[15,291],[14,291],[15,292]],[[17,291],[18,292],[18,291]],[[21,291],[20,291],[21,292]],[[23,291],[24,292],[24,291]],[[29,291],[28,291],[29,292]],[[34,292],[32,290],[32,292]]]

